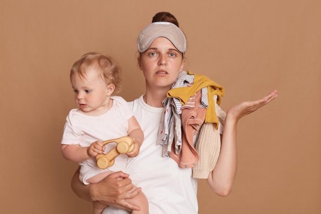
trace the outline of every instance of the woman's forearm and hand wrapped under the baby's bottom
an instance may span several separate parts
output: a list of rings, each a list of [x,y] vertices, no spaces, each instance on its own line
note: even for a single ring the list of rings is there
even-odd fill
[[[126,201],[134,198],[142,190],[137,188],[128,192],[133,188],[131,179],[128,178],[129,174],[122,171],[114,172],[98,183],[85,185],[79,180],[79,169],[80,167],[77,168],[71,180],[71,188],[79,198],[90,202],[100,201],[110,206],[140,209]]]

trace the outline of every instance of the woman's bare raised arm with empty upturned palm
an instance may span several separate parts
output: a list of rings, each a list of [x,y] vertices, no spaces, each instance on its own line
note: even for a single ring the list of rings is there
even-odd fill
[[[274,90],[263,99],[240,103],[227,111],[219,158],[207,182],[219,196],[228,196],[232,190],[237,170],[236,129],[237,122],[243,116],[256,111],[277,97]]]

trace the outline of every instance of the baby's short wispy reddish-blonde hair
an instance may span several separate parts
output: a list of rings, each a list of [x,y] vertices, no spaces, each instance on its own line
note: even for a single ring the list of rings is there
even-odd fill
[[[107,84],[115,86],[114,92],[119,92],[122,86],[122,68],[108,55],[98,52],[89,52],[77,60],[70,70],[70,80],[75,74],[86,79],[86,72],[93,67],[102,80]]]

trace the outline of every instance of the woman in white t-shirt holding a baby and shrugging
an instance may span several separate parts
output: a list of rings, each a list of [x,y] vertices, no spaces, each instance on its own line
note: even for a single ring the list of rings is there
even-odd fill
[[[130,105],[145,135],[141,152],[128,161],[128,174],[116,172],[99,183],[84,186],[77,181],[76,171],[72,188],[79,197],[88,201],[139,209],[125,201],[141,190],[138,188],[128,192],[134,184],[143,188],[149,201],[150,213],[197,213],[197,180],[192,178],[191,168],[179,168],[171,158],[163,158],[162,146],[155,143],[159,121],[164,112],[162,101],[179,72],[183,71],[186,51],[186,39],[179,30],[175,17],[170,13],[160,12],[153,17],[153,22],[157,21],[170,21],[176,25],[152,23],[138,36],[138,65],[145,76],[146,93]],[[164,31],[163,28],[167,29]],[[214,170],[207,178],[209,186],[219,196],[230,193],[236,174],[237,121],[276,97],[276,91],[272,91],[261,100],[244,102],[227,111],[220,155]],[[129,174],[133,184],[128,178]],[[117,178],[124,180],[119,181]],[[127,213],[109,208],[103,213]]]

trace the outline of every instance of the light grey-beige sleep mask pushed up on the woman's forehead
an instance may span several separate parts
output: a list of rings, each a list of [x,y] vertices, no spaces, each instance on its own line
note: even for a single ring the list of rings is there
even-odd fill
[[[137,38],[139,52],[144,52],[157,37],[166,37],[180,52],[186,51],[186,38],[182,30],[170,22],[154,22],[146,26]]]

